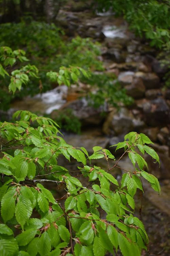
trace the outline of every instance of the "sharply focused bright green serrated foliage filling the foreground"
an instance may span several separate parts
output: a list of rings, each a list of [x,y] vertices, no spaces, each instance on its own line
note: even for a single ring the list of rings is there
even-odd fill
[[[109,173],[120,159],[111,167],[109,160],[113,163],[115,157],[109,150],[94,146],[89,156],[84,147],[68,145],[52,119],[29,111],[17,111],[14,118],[15,123],[0,123],[0,255],[104,256],[119,248],[123,256],[138,256],[147,249],[145,228],[133,216],[133,197],[137,188],[143,192],[142,177],[158,193],[160,186],[142,170],[147,166],[144,152],[159,162],[145,134],[131,132],[117,144],[116,150],[124,147],[133,165],[138,164],[136,171],[123,174],[120,185]],[[57,165],[61,155],[79,162],[75,176]],[[98,158],[106,160],[107,170],[87,165],[87,160]],[[64,188],[63,196],[52,194],[47,184]]]

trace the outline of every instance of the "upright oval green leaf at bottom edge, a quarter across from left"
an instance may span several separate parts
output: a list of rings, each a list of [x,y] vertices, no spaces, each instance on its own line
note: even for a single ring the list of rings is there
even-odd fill
[[[51,239],[49,237],[49,234],[47,232],[44,232],[41,234],[39,242],[39,254],[41,256],[46,256],[51,251]]]

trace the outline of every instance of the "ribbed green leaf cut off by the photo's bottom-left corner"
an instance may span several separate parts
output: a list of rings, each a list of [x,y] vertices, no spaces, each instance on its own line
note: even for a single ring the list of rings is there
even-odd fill
[[[16,256],[18,251],[18,245],[9,240],[0,240],[0,255],[2,256]]]

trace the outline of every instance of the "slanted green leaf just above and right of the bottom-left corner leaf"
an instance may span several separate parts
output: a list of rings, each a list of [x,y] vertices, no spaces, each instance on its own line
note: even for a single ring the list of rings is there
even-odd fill
[[[36,235],[37,230],[28,229],[18,236],[16,236],[17,242],[19,246],[27,245]]]

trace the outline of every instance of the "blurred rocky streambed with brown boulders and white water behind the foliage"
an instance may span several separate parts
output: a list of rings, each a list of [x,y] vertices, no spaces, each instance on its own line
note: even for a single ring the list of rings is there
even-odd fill
[[[115,18],[113,14],[94,14],[88,9],[88,1],[80,5],[67,3],[57,17],[57,23],[65,28],[68,37],[80,35],[91,37],[101,43],[100,59],[104,62],[106,73],[116,75],[127,94],[134,98],[134,103],[127,107],[115,108],[105,106],[105,116],[101,116],[103,108],[94,109],[87,104],[85,98],[78,99],[77,86],[55,88],[46,94],[26,98],[14,103],[11,112],[27,109],[33,112],[50,114],[56,117],[56,111],[72,109],[75,116],[83,124],[82,134],[65,133],[65,140],[72,146],[83,146],[92,153],[94,145],[112,150],[111,145],[123,141],[130,131],[145,133],[153,142],[151,145],[160,157],[160,168],[157,163],[146,157],[149,172],[155,175],[161,185],[162,195],[157,195],[150,185],[143,181],[145,193],[142,200],[142,213],[138,216],[141,200],[136,197],[136,215],[145,224],[149,234],[150,255],[170,255],[170,89],[164,89],[163,76],[166,69],[156,59],[157,52],[149,43],[136,38],[128,30],[123,18]],[[76,5],[77,3],[77,5]],[[81,89],[84,88],[80,84]],[[82,90],[81,90],[82,91]],[[50,95],[53,95],[51,98]],[[88,129],[87,129],[88,127]],[[121,153],[121,152],[120,152]],[[119,153],[118,153],[119,154]],[[116,155],[119,157],[119,155]],[[64,160],[64,165],[66,162]],[[62,162],[61,162],[62,164]],[[68,163],[69,164],[69,163]],[[103,162],[95,163],[104,165]],[[122,159],[119,166],[133,169],[128,158]],[[66,167],[67,168],[67,167]],[[69,168],[76,168],[74,161]],[[102,167],[104,168],[104,166]],[[117,179],[123,171],[113,173]],[[149,255],[149,252],[142,252]]]

